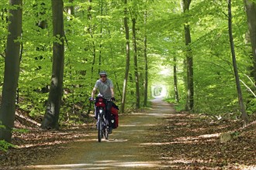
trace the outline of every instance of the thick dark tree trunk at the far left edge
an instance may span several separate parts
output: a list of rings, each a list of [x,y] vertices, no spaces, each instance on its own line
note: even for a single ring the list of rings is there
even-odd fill
[[[12,141],[16,112],[16,89],[19,80],[19,54],[22,33],[22,0],[10,0],[9,26],[5,56],[5,74],[2,87],[0,121],[5,128],[0,128],[0,140]],[[17,41],[18,40],[18,41]]]

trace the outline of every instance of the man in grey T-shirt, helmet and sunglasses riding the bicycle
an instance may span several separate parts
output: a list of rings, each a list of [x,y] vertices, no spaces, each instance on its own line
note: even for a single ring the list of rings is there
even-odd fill
[[[99,72],[99,76],[100,76],[99,80],[96,81],[95,86],[92,89],[92,95],[90,97],[90,100],[94,99],[97,89],[99,90],[98,96],[102,96],[107,100],[111,100],[111,101],[108,101],[106,105],[106,119],[107,121],[109,121],[109,134],[111,134],[112,127],[111,127],[110,119],[111,119],[112,101],[115,100],[114,86],[113,86],[112,80],[107,78],[106,71]],[[95,109],[95,119],[97,119],[96,109]]]

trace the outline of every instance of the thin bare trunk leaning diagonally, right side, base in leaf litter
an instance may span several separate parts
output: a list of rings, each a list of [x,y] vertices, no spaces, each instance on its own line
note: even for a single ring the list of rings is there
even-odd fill
[[[242,119],[244,121],[244,126],[246,126],[249,123],[249,119],[244,107],[243,102],[243,95],[240,88],[240,81],[239,81],[239,75],[237,71],[237,60],[236,60],[236,54],[234,50],[234,40],[232,35],[232,14],[231,14],[231,0],[227,0],[228,3],[228,28],[229,28],[229,35],[230,35],[230,49],[232,53],[232,61],[233,61],[233,67],[234,67],[234,76],[236,78],[236,84],[237,84],[237,94],[238,94],[238,102],[240,105],[240,111],[242,113]]]

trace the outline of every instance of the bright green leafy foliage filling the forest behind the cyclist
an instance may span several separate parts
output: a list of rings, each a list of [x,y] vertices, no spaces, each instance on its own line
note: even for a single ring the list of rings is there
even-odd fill
[[[74,13],[67,8],[74,7]],[[64,0],[65,63],[64,96],[61,121],[81,121],[89,109],[99,70],[107,70],[115,85],[117,104],[123,95],[126,68],[126,39],[123,29],[123,3],[119,1]],[[91,8],[91,9],[90,9]],[[173,66],[178,68],[178,110],[185,108],[186,70],[184,24],[191,28],[194,59],[195,106],[198,113],[239,114],[230,44],[227,30],[227,2],[192,1],[189,12],[182,13],[180,1],[130,1],[131,18],[137,19],[137,55],[141,101],[144,97],[144,38],[147,36],[148,93],[164,86],[169,102],[175,102]],[[0,2],[0,82],[3,80],[5,42],[8,26],[8,1]],[[251,77],[251,47],[247,43],[247,23],[242,1],[233,2],[234,42],[240,79],[254,90]],[[145,13],[147,11],[147,22]],[[19,76],[19,108],[41,119],[45,112],[52,66],[52,19],[50,1],[24,1],[22,21],[22,58]],[[45,26],[40,24],[44,23]],[[126,108],[135,107],[133,43],[130,32],[130,75]],[[177,61],[174,61],[174,58]],[[166,72],[162,72],[166,70]],[[247,112],[254,114],[255,99],[242,86]],[[149,96],[150,98],[151,96]],[[142,102],[141,102],[142,103]]]

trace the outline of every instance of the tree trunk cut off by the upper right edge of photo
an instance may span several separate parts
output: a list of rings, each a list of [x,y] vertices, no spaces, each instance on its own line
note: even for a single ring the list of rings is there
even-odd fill
[[[256,84],[256,2],[251,0],[244,0],[245,9],[247,13],[247,23],[250,32],[251,49],[253,54],[253,76]]]

